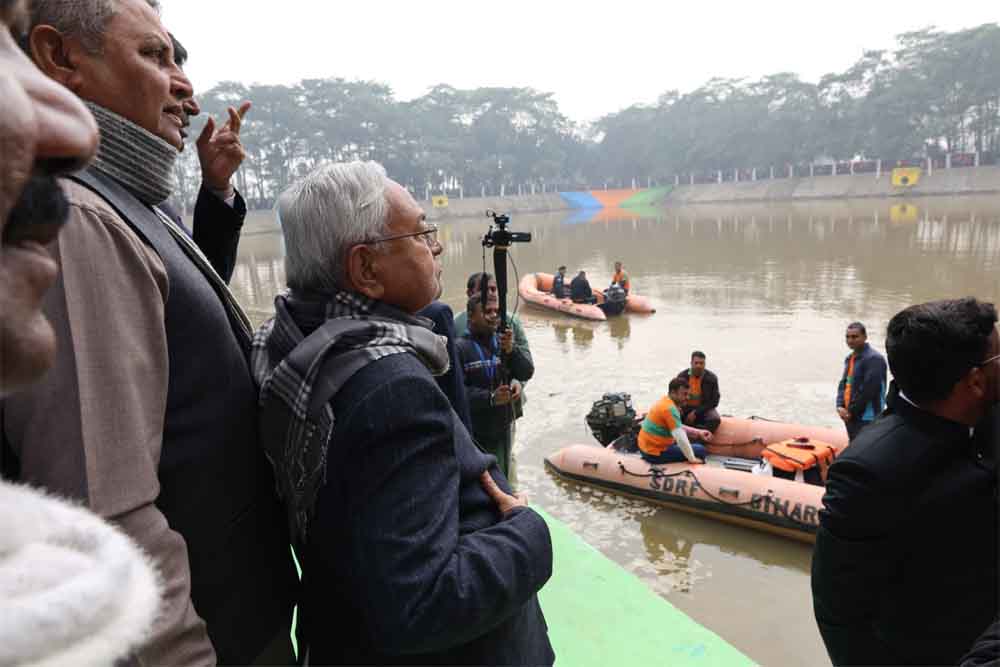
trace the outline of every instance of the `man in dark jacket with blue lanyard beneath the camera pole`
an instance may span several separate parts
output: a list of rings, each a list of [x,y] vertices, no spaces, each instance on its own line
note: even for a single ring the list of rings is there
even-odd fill
[[[497,457],[504,475],[510,477],[510,425],[521,382],[535,373],[531,356],[514,345],[513,331],[496,333],[497,305],[483,306],[479,297],[468,302],[469,332],[459,339],[458,355],[469,396],[472,434],[486,451]],[[506,367],[501,366],[500,356]],[[505,376],[509,374],[509,377]]]

